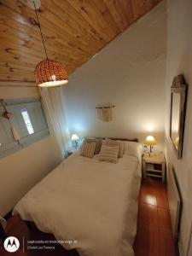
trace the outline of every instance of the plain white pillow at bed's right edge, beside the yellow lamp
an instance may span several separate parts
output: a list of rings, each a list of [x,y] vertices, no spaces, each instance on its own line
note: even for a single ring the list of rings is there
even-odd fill
[[[135,142],[125,142],[124,154],[136,156],[141,159],[141,156],[143,154],[143,144]]]

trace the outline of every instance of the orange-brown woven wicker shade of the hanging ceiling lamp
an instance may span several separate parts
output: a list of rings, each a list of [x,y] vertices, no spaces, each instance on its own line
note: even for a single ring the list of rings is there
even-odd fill
[[[68,83],[65,68],[58,61],[44,60],[35,68],[35,80],[39,87],[61,86]]]

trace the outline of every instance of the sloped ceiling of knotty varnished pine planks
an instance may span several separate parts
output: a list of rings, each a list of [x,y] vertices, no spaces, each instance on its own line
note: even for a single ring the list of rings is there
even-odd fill
[[[49,58],[73,73],[160,2],[41,0],[38,17]],[[35,86],[34,68],[45,55],[31,18],[36,20],[35,11],[26,6],[26,0],[0,0],[0,85]]]

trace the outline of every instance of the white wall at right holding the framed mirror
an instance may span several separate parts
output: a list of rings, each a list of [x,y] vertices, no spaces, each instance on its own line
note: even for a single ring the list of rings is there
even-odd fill
[[[183,216],[179,247],[186,255],[192,221],[192,1],[168,1],[167,68],[166,68],[166,158],[174,166],[183,199]],[[170,87],[175,75],[182,73],[189,85],[183,142],[183,159],[177,160],[169,139]]]

